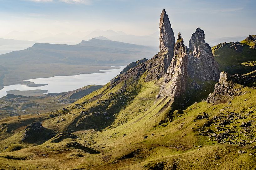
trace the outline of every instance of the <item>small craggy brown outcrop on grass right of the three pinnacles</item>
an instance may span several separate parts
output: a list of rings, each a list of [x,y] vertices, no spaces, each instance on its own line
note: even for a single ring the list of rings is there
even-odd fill
[[[215,84],[214,92],[209,94],[206,102],[215,103],[223,100],[223,97],[235,95],[240,90],[239,88],[235,88],[237,83],[238,80],[234,76],[222,71],[219,82]]]

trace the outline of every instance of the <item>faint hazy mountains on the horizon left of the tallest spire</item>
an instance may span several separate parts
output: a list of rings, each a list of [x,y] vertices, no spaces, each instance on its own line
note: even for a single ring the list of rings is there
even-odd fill
[[[158,34],[158,33],[157,33]],[[136,36],[136,35],[128,35],[122,31],[101,31],[95,30],[92,32],[73,32],[71,34],[59,33],[59,34],[43,34],[40,35],[36,32],[17,32],[13,31],[3,36],[3,38],[11,38],[18,40],[30,40],[36,41],[40,43],[54,43],[54,44],[69,44],[75,45],[82,40],[90,40],[92,38],[98,36],[104,36],[112,41],[121,41],[132,44],[140,44],[145,46],[158,46],[159,36],[155,36],[157,34],[152,34],[148,36]]]

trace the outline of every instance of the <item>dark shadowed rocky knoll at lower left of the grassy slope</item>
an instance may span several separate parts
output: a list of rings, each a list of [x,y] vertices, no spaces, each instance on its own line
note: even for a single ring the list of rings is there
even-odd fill
[[[44,128],[40,122],[34,122],[26,127],[22,141],[28,143],[43,143],[55,135],[56,133],[53,130]]]

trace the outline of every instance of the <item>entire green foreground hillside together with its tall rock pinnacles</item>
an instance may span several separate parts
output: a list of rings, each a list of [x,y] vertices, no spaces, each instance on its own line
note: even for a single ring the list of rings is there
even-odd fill
[[[0,119],[1,168],[255,169],[256,75],[238,65],[255,49],[211,49],[200,28],[186,47],[165,10],[159,28],[159,53],[102,88],[53,113]],[[251,56],[238,60],[238,44]]]

